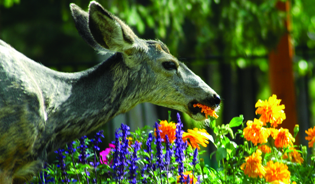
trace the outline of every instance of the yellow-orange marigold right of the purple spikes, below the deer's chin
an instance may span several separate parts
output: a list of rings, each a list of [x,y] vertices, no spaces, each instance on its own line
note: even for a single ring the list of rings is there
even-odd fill
[[[187,132],[183,133],[183,141],[186,142],[189,138],[189,141],[191,143],[191,146],[195,149],[196,147],[200,149],[198,144],[201,144],[204,147],[207,147],[207,144],[209,143],[210,134],[205,129],[197,129],[194,128],[193,130],[188,129]],[[188,144],[190,145],[190,144]]]

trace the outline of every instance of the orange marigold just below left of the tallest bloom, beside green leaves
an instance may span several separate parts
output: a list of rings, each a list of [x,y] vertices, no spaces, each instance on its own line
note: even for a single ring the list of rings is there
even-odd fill
[[[270,135],[269,129],[263,127],[263,122],[259,119],[254,121],[248,120],[246,122],[247,127],[243,130],[244,138],[251,141],[256,146],[257,143],[268,142],[267,138]]]

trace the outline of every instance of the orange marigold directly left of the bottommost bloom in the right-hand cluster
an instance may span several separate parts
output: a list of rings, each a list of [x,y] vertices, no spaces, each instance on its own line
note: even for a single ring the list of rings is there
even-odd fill
[[[262,178],[266,171],[264,166],[262,165],[262,151],[257,149],[251,156],[245,157],[245,162],[241,165],[241,169],[244,170],[244,174],[249,177],[257,177]],[[245,167],[246,166],[246,167]],[[245,167],[245,169],[244,169]]]

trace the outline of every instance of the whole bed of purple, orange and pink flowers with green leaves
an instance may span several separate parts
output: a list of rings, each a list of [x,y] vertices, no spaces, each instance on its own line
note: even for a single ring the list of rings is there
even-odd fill
[[[45,165],[32,183],[315,183],[315,155],[307,147],[294,145],[293,135],[279,128],[285,123],[284,105],[275,95],[259,100],[255,107],[259,118],[234,117],[230,124],[216,125],[215,112],[202,105],[210,117],[213,138],[205,129],[183,131],[181,117],[156,122],[130,132],[122,124],[108,148],[98,147],[103,131],[94,139],[83,136],[56,150],[58,160]],[[246,126],[245,126],[246,125]],[[237,132],[231,128],[239,127]],[[315,127],[305,131],[308,147],[315,142]],[[243,144],[233,142],[236,136]],[[218,169],[202,158],[209,142],[217,148]]]

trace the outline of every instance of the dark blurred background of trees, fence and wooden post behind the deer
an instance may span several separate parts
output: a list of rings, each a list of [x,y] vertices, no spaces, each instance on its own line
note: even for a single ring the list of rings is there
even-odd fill
[[[90,68],[105,56],[79,37],[69,9],[69,4],[75,3],[87,10],[89,2],[0,0],[0,39],[54,70],[76,72]],[[171,53],[220,95],[218,124],[227,124],[240,114],[245,121],[253,120],[257,100],[276,94],[283,99],[287,113],[281,126],[291,129],[299,124],[296,144],[307,145],[304,131],[315,125],[313,0],[98,2],[129,24],[139,38],[163,41]],[[167,119],[168,110],[145,103],[117,116],[102,127],[103,148],[113,140],[114,130],[122,122],[131,131],[145,125],[152,127],[158,119]],[[176,113],[172,110],[174,120]],[[186,114],[181,115],[185,130],[203,127]],[[235,142],[238,141],[237,137]],[[212,143],[205,149],[209,155],[215,150]],[[215,167],[215,158],[211,162],[209,156],[203,157]]]

